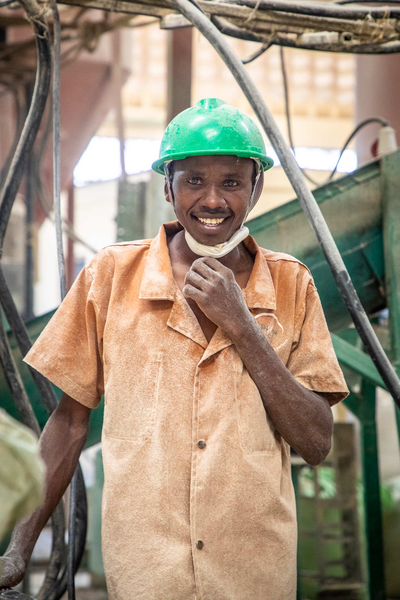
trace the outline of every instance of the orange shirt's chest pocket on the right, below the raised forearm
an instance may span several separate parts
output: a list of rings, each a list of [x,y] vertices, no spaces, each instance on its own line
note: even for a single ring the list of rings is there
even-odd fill
[[[275,428],[267,418],[257,386],[243,368],[235,373],[235,401],[240,448],[246,454],[280,451]]]

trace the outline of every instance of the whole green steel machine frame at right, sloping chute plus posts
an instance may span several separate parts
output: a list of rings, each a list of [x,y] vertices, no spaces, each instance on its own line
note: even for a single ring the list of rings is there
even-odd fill
[[[400,151],[317,188],[314,196],[366,311],[372,314],[389,308],[389,358],[400,373]],[[350,325],[350,316],[314,233],[306,228],[297,200],[256,217],[248,226],[258,244],[293,254],[308,266],[331,331]],[[336,356],[362,378],[360,392],[350,392],[344,403],[360,422],[369,597],[382,600],[385,581],[375,392],[377,386],[386,387],[371,358],[342,335],[342,331],[331,333]],[[398,407],[396,421],[400,438]]]

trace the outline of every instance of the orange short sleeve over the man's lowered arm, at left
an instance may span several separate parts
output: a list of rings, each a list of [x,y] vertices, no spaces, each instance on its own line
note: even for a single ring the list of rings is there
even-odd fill
[[[92,292],[93,271],[82,269],[24,361],[74,400],[93,409],[104,393],[105,320]]]

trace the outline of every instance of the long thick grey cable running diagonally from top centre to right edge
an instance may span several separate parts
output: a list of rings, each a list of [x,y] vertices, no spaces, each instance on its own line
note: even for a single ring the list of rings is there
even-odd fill
[[[321,245],[326,261],[335,278],[336,285],[341,292],[360,338],[372,361],[374,361],[393,400],[400,407],[400,379],[393,369],[392,364],[390,364],[362,307],[350,275],[332,237],[332,233],[330,233],[329,227],[321,213],[321,209],[314,196],[312,196],[311,190],[308,189],[299,166],[285,143],[281,131],[279,131],[279,127],[276,125],[263,97],[254,85],[242,61],[240,61],[215,25],[197,10],[189,0],[175,0],[173,6],[177,5],[179,11],[199,29],[201,34],[207,38],[219,56],[221,56],[254,110],[258,121],[260,121],[268,139],[272,143],[273,149],[275,149],[278,155],[279,161],[281,161],[281,165],[299,199],[300,205],[308,217],[309,223],[314,229],[315,235],[317,235],[318,242]]]

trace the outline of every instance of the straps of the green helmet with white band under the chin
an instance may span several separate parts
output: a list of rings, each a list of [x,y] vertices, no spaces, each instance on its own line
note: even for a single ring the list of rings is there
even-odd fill
[[[233,236],[231,236],[231,238],[229,238],[226,242],[222,242],[221,244],[215,244],[215,246],[207,246],[205,244],[200,244],[199,242],[196,241],[196,239],[194,239],[190,235],[190,233],[187,230],[185,230],[185,240],[186,240],[188,246],[190,247],[191,251],[193,251],[195,254],[198,254],[199,256],[211,256],[215,259],[222,258],[222,256],[225,256],[225,254],[230,253],[233,250],[233,248],[236,248],[236,246],[239,245],[240,242],[242,242],[243,239],[246,239],[246,237],[249,235],[248,227],[245,227],[244,223],[245,223],[245,220],[246,220],[249,212],[251,211],[252,208],[254,208],[254,206],[257,203],[258,198],[261,196],[261,191],[263,190],[263,185],[264,185],[264,169],[261,166],[261,163],[259,160],[255,159],[255,158],[253,158],[252,160],[254,160],[258,166],[258,173],[257,173],[257,178],[255,179],[254,188],[252,190],[252,193],[251,193],[251,196],[249,199],[245,218],[243,218],[241,226],[239,227],[239,229],[236,230],[236,232],[234,232]],[[164,173],[166,175],[166,182],[167,182],[167,189],[168,189],[170,203],[172,204],[173,209],[175,211],[175,202],[173,199],[172,190],[171,190],[171,186],[170,186],[170,177],[169,177],[169,169],[168,169],[168,165],[170,162],[172,162],[172,161],[169,161],[168,163],[164,163]],[[176,214],[176,211],[175,211],[175,214]]]

